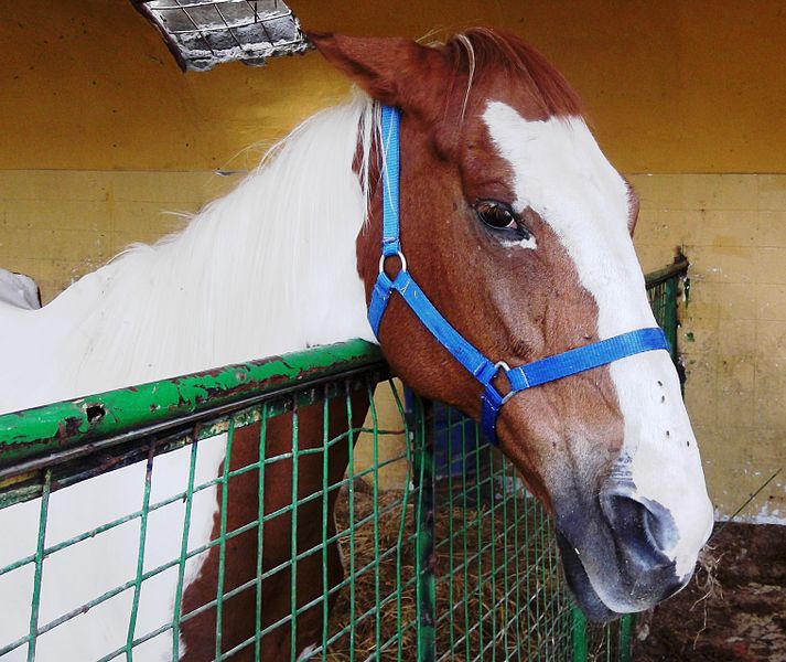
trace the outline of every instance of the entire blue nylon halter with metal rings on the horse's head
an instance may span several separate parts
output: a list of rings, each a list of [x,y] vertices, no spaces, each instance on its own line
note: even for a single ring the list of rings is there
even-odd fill
[[[518,367],[509,367],[504,361],[496,363],[484,356],[472,343],[459,333],[434,308],[407,270],[407,259],[399,239],[399,162],[398,162],[399,111],[383,107],[383,254],[379,258],[379,276],[374,285],[368,307],[368,321],[374,334],[379,338],[379,323],[387,308],[390,295],[397,291],[422,324],[483,386],[481,396],[481,427],[485,437],[498,446],[496,436],[497,415],[502,406],[514,395],[577,373],[606,365],[625,356],[653,350],[668,350],[668,341],[659,327],[638,329],[606,340],[554,354]],[[401,270],[395,279],[385,273],[385,260],[398,256]],[[504,371],[510,391],[503,395],[492,384],[499,371]]]

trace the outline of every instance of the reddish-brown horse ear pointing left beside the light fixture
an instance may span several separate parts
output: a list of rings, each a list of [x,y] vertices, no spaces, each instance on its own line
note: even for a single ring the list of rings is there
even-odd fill
[[[322,55],[376,100],[405,111],[429,116],[431,93],[448,73],[438,49],[402,38],[357,38],[333,32],[309,32]]]

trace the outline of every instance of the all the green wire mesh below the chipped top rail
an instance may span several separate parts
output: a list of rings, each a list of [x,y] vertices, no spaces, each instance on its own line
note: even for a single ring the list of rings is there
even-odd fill
[[[18,573],[29,583],[18,631],[0,642],[0,654],[60,659],[57,633],[69,633],[66,645],[89,639],[119,601],[126,615],[120,634],[84,659],[148,659],[162,649],[177,659],[195,628],[211,643],[205,659],[215,660],[243,651],[295,660],[309,645],[315,660],[528,660],[534,651],[543,660],[568,659],[569,604],[542,510],[486,445],[462,457],[461,478],[434,482],[430,405],[417,401],[414,415],[407,415],[391,385],[398,420],[380,426],[372,395],[384,371],[377,365],[327,380],[317,372],[316,384],[304,381],[218,417],[207,409],[207,418],[185,428],[175,418],[173,431],[137,430],[130,448],[122,435],[94,440],[104,468],[97,477],[90,458],[73,460],[67,452],[7,463],[6,508],[37,511],[39,526],[28,553],[0,567],[0,585]],[[109,399],[90,398],[87,406],[100,401],[114,416]],[[451,425],[478,434],[463,418]],[[3,429],[3,439],[21,435],[18,424]],[[387,437],[401,434],[410,444],[387,451]],[[370,466],[355,459],[362,436],[372,445]],[[379,472],[397,465],[400,489],[381,491]],[[179,478],[181,489],[162,490],[160,476]],[[87,478],[77,482],[80,477]],[[55,511],[60,519],[67,514],[55,502],[101,479],[105,489],[133,492],[121,500],[127,511],[64,537]],[[212,531],[195,537],[204,528],[196,513],[211,501],[217,506]],[[166,522],[174,525],[157,526],[173,509]],[[76,513],[71,519],[79,520]],[[79,560],[80,546],[121,530],[125,537],[114,544],[132,547],[129,563],[109,554],[99,559],[114,585],[52,612],[47,579],[65,580],[58,562],[71,557],[84,566],[94,558]],[[204,580],[190,584],[197,559]],[[152,622],[146,592],[164,576],[174,596],[171,618]]]

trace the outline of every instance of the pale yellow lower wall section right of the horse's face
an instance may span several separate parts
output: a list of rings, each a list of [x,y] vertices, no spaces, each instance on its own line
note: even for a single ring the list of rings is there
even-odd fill
[[[674,246],[691,261],[679,342],[710,495],[734,513],[786,467],[786,174],[631,178],[645,269]],[[786,522],[786,476],[742,513]]]

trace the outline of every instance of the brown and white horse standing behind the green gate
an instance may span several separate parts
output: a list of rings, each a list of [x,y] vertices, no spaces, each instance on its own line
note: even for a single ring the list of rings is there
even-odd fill
[[[483,28],[433,45],[333,33],[310,39],[359,90],[294,129],[259,169],[181,233],[152,246],[132,246],[41,310],[0,307],[0,328],[10,339],[0,346],[1,410],[362,338],[377,342],[395,374],[416,392],[480,420],[477,380],[400,297],[390,298],[377,335],[367,319],[380,269],[405,268],[403,260],[392,259],[380,266],[381,106],[400,113],[406,268],[472,345],[516,366],[655,325],[632,241],[636,193],[604,157],[575,93],[534,49]],[[39,378],[44,372],[46,381]],[[504,381],[502,374],[494,380],[503,393],[510,388]],[[335,434],[359,425],[367,403],[353,401],[352,416],[331,407],[330,433]],[[268,451],[284,452],[292,419],[271,424]],[[302,409],[298,426],[301,448],[319,448],[321,414]],[[252,426],[238,430],[233,467],[258,459],[257,433]],[[516,393],[499,409],[495,435],[527,489],[553,516],[568,585],[590,619],[642,611],[688,583],[712,527],[712,508],[667,352],[638,353]],[[331,450],[332,482],[344,474],[346,452]],[[224,445],[200,453],[201,474],[220,476]],[[182,487],[187,455],[160,460],[153,491]],[[299,494],[322,489],[319,465],[299,466]],[[60,517],[67,522],[61,526],[89,530],[90,521],[100,523],[118,503],[121,511],[136,510],[140,469],[133,471],[121,469],[63,490],[68,517]],[[266,477],[271,489],[266,487],[265,512],[291,502],[291,462]],[[98,487],[88,488],[95,482]],[[53,505],[60,494],[52,494]],[[193,547],[217,536],[225,506],[228,526],[255,520],[256,473],[238,477],[227,503],[222,499],[214,487],[194,502]],[[299,513],[298,549],[321,540],[321,512],[311,505]],[[31,528],[35,519],[36,512],[22,506],[0,512],[4,532]],[[58,526],[56,517],[51,521]],[[287,522],[265,528],[265,567],[292,554]],[[163,547],[172,531],[180,544],[182,510],[151,516],[148,526],[152,555],[176,557],[176,549]],[[66,598],[87,595],[85,585],[97,595],[133,577],[138,531],[128,528],[112,540],[97,535],[82,543],[76,564],[45,567],[42,611],[63,612]],[[47,532],[54,538],[67,534]],[[17,543],[21,533],[11,537],[10,558],[29,553]],[[257,576],[258,553],[256,534],[227,545],[225,588]],[[308,605],[321,594],[319,583],[309,581],[321,560],[312,555],[302,562],[294,599]],[[332,544],[331,586],[343,576],[341,564]],[[218,565],[215,547],[187,562],[183,609],[215,597]],[[172,621],[179,596],[171,575],[142,591],[138,631]],[[3,640],[10,623],[26,628],[25,579],[26,594],[19,583],[11,586],[17,592],[0,584]],[[262,626],[289,613],[290,590],[287,574],[265,584]],[[260,627],[252,600],[251,591],[224,605],[222,650]],[[106,654],[118,640],[126,641],[129,601],[101,608],[91,626],[76,619],[53,629],[39,642],[39,652],[49,659],[43,651],[50,651],[57,660]],[[266,636],[260,659],[308,659],[322,627],[314,611],[298,616],[294,642],[294,622]],[[164,632],[147,641],[139,654],[212,659],[215,626],[215,609],[205,610],[176,636]],[[251,648],[234,659],[254,659]]]

